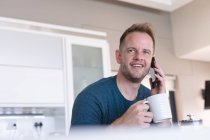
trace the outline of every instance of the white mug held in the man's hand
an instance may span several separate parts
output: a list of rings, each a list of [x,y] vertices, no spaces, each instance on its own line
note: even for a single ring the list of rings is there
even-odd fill
[[[168,95],[165,93],[155,94],[147,98],[149,109],[153,113],[154,123],[171,119],[171,108]]]

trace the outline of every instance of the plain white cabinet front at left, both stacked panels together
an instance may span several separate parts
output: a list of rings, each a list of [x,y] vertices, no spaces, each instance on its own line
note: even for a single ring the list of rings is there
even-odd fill
[[[64,105],[63,38],[0,29],[0,103]]]

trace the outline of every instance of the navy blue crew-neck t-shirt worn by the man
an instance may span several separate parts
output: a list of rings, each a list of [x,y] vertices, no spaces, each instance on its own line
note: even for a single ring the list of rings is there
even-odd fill
[[[150,95],[150,90],[141,85],[136,99],[129,101],[120,93],[116,76],[103,78],[86,87],[75,99],[71,127],[111,124],[132,104]]]

